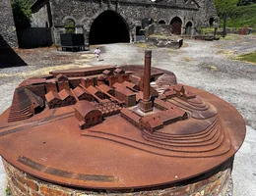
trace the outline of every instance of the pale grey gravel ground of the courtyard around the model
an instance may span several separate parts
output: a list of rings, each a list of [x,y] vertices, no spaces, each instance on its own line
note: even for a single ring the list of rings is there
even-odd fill
[[[15,87],[25,78],[57,69],[88,65],[143,64],[144,51],[153,50],[153,66],[176,74],[178,82],[207,90],[233,105],[243,116],[247,133],[235,156],[232,172],[234,196],[256,195],[256,65],[236,61],[239,54],[256,51],[256,36],[228,36],[225,40],[205,42],[185,40],[179,50],[147,48],[144,44],[101,45],[101,59],[92,54],[63,53],[53,48],[17,50],[30,65],[0,70],[3,89],[0,112],[12,101]],[[50,65],[50,66],[49,66]],[[5,190],[5,176],[0,167],[0,187]],[[0,192],[1,193],[1,192]],[[2,195],[2,194],[0,194]],[[4,195],[4,193],[3,193]]]

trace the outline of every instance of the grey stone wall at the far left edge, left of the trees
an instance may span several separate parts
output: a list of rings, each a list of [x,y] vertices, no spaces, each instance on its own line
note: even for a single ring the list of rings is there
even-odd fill
[[[6,43],[10,47],[17,47],[18,41],[16,35],[16,28],[10,2],[10,0],[0,1],[0,36],[6,41]],[[0,43],[0,49],[2,49],[3,47],[6,47],[6,44]]]

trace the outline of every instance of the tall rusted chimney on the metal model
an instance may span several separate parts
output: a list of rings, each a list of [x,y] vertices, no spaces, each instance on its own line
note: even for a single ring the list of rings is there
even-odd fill
[[[140,102],[140,109],[144,112],[150,112],[153,110],[152,102],[150,101],[151,93],[151,57],[152,51],[145,51],[145,65],[143,75],[143,100]]]

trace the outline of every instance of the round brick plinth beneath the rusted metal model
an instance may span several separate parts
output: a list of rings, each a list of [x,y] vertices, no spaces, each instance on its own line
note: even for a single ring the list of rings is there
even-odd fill
[[[215,170],[175,184],[141,190],[83,190],[49,183],[22,172],[3,160],[10,189],[14,196],[231,196],[231,169],[233,158]],[[181,169],[182,170],[182,169]],[[140,176],[138,176],[140,177]]]

